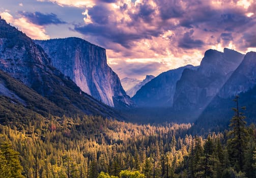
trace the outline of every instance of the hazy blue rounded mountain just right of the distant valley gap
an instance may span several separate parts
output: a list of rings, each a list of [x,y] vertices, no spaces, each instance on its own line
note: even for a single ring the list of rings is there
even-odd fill
[[[185,69],[196,67],[187,65],[161,73],[142,86],[132,100],[139,107],[172,107],[176,83]]]

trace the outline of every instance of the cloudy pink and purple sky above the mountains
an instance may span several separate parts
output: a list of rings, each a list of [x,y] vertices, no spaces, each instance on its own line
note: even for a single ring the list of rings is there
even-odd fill
[[[104,47],[120,79],[200,65],[208,49],[256,51],[254,0],[0,0],[0,15],[32,39]]]

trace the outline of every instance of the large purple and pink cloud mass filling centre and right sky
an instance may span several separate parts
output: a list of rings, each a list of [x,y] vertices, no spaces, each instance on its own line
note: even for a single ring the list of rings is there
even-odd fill
[[[209,48],[232,47],[244,52],[248,47],[254,47],[254,36],[248,35],[254,34],[256,27],[253,7],[256,6],[243,6],[241,1],[228,0],[138,0],[135,3],[118,0],[86,8],[88,16],[85,18],[90,21],[75,25],[74,31],[108,49],[110,60],[118,61],[122,67],[122,70],[115,67],[119,74],[123,71],[131,75],[124,72],[128,69],[119,58],[138,58],[139,61],[169,58],[164,64],[173,69],[183,64],[198,64]],[[99,11],[102,12],[100,15]],[[154,66],[155,63],[151,64]],[[167,69],[160,66],[155,67]],[[141,74],[130,71],[138,75],[144,73],[140,68]]]

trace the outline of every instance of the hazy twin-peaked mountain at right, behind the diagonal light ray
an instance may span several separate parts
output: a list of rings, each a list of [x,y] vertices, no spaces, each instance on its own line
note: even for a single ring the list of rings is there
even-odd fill
[[[219,92],[243,60],[244,55],[224,48],[209,49],[197,70],[185,69],[177,82],[174,110],[196,118]]]

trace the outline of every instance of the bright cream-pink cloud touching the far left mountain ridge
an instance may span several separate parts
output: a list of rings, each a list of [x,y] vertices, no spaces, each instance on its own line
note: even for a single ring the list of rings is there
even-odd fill
[[[2,13],[0,12],[0,15],[7,22],[18,27],[19,30],[21,30],[23,33],[25,33],[27,36],[29,36],[32,39],[45,40],[50,38],[48,35],[46,35],[46,31],[43,28],[43,26],[31,23],[27,21],[27,19],[24,17],[15,19],[9,12],[2,12]]]

